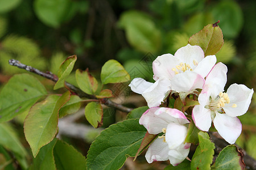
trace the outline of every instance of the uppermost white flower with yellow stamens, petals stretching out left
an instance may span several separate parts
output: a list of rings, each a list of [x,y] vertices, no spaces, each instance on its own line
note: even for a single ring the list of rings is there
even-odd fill
[[[203,88],[204,78],[216,63],[215,56],[204,57],[200,46],[187,45],[174,54],[158,56],[152,63],[155,83],[135,78],[129,86],[142,94],[148,107],[158,107],[168,91],[189,93]]]

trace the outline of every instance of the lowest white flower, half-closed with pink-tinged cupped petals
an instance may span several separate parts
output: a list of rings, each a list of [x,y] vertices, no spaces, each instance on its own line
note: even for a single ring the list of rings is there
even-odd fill
[[[148,133],[164,133],[155,139],[148,147],[146,160],[154,161],[170,160],[172,165],[177,165],[188,156],[191,143],[184,143],[189,124],[185,115],[177,109],[153,107],[143,113],[139,120]]]

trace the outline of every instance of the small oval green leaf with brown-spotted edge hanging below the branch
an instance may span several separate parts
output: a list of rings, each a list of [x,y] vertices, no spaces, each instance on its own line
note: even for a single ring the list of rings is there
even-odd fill
[[[101,104],[96,102],[88,103],[85,107],[85,117],[94,128],[99,128],[103,120]]]

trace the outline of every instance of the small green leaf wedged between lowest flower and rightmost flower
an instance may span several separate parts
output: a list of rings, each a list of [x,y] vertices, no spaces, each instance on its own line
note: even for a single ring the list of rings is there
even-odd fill
[[[191,118],[191,122],[188,126],[188,134],[187,134],[187,137],[185,138],[185,142],[193,143],[193,145],[197,145],[199,143],[199,139],[198,139],[199,131],[200,130],[196,128],[196,125]]]

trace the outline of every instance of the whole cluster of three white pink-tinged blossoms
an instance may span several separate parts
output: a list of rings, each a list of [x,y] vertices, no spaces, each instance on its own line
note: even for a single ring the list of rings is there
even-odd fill
[[[185,114],[177,109],[163,108],[159,105],[170,92],[191,94],[201,89],[199,105],[195,105],[192,118],[197,128],[208,131],[214,128],[227,142],[233,144],[241,134],[242,125],[237,116],[245,114],[249,108],[253,89],[243,84],[232,84],[227,92],[227,67],[216,56],[204,57],[200,46],[187,45],[174,54],[163,54],[152,63],[155,83],[135,78],[129,86],[131,90],[146,99],[148,109],[143,113],[139,124],[148,133],[162,136],[148,147],[146,159],[153,161],[170,160],[177,165],[187,157],[190,143],[184,143],[189,121]]]

